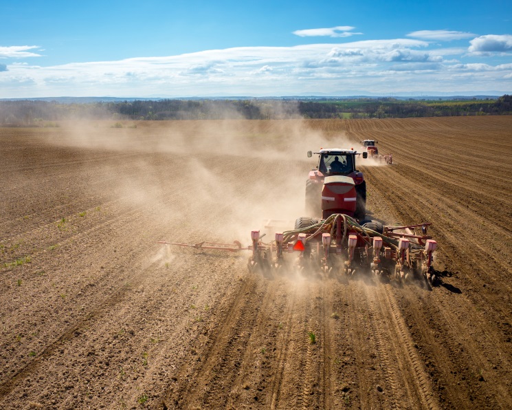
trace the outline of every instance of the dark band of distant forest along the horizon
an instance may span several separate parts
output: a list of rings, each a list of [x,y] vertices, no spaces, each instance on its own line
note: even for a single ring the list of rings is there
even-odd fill
[[[133,100],[63,104],[57,101],[0,101],[3,127],[53,127],[59,120],[216,120],[245,118],[409,118],[512,114],[512,96],[477,100],[395,98]]]

